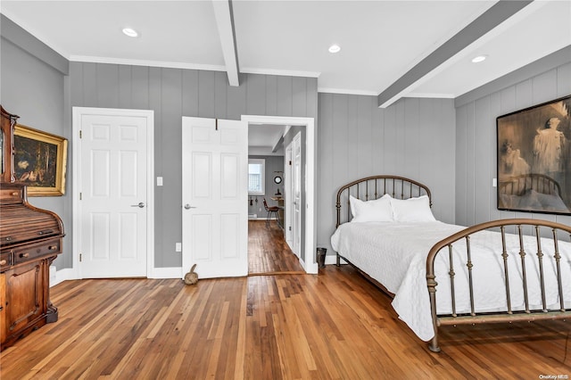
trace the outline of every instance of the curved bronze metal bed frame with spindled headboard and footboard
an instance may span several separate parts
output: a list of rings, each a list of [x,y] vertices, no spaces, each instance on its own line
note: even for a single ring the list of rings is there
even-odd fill
[[[431,199],[430,204],[432,206],[432,197],[430,190],[427,186],[424,186],[417,181],[409,178],[397,177],[397,176],[373,176],[368,178],[361,178],[355,180],[345,186],[342,186],[337,192],[336,197],[336,225],[339,227],[345,222],[349,222],[352,219],[351,210],[349,207],[349,195],[354,196],[360,200],[368,201],[380,198],[384,194],[390,194],[394,198],[398,199],[408,199],[410,197],[419,196],[422,194],[428,195]],[[347,211],[343,212],[342,207],[345,206]],[[474,302],[474,283],[472,281],[472,268],[474,266],[473,262],[473,252],[470,251],[470,236],[476,234],[477,232],[484,230],[495,230],[501,233],[502,246],[498,247],[498,254],[502,258],[503,262],[503,272],[504,272],[504,285],[507,300],[506,310],[493,312],[493,313],[478,313],[475,308]],[[521,269],[523,272],[523,293],[525,299],[525,310],[512,310],[511,299],[510,299],[510,285],[508,277],[508,252],[506,252],[506,230],[514,231],[519,237],[519,256],[521,258]],[[535,239],[535,250],[534,252],[525,252],[523,236],[524,235],[534,235]],[[542,237],[548,237],[553,240],[554,252],[543,252],[542,251]],[[434,326],[434,337],[428,343],[428,348],[430,351],[439,352],[441,351],[438,346],[438,328],[445,325],[460,325],[460,324],[480,324],[480,323],[505,323],[513,321],[534,321],[539,319],[563,319],[571,317],[571,305],[565,304],[563,298],[563,281],[561,274],[561,255],[559,253],[559,241],[570,241],[571,240],[571,227],[563,225],[561,223],[552,222],[549,220],[541,219],[500,219],[492,220],[489,222],[484,222],[476,226],[465,228],[458,233],[448,236],[434,244],[434,246],[427,252],[426,256],[426,285],[428,288],[428,294],[430,297],[430,306],[432,311],[432,320]],[[454,252],[454,244],[458,242],[464,242],[466,245],[465,253],[467,255],[468,263],[468,289],[470,297],[471,311],[467,314],[457,314],[455,310],[455,291],[454,291],[454,268],[453,260],[451,260],[452,255],[459,254]],[[528,249],[529,251],[529,249]],[[434,260],[438,254],[448,254],[450,256],[450,268],[448,268],[448,278],[443,278],[441,281],[451,282],[451,300],[452,300],[452,312],[451,314],[439,315],[436,313],[436,287],[438,283],[436,282],[436,277],[434,275]],[[559,307],[555,310],[548,309],[548,305],[545,301],[545,280],[543,272],[543,260],[545,256],[550,255],[555,259],[557,267],[557,285],[559,294]],[[525,265],[530,265],[530,263],[525,262],[526,257],[531,257],[532,260],[537,260],[539,267],[539,284],[542,286],[542,308],[532,309],[527,297],[528,287],[527,287],[527,276],[531,276],[530,273],[525,271]],[[349,260],[346,260],[343,256],[337,253],[336,258],[337,266],[340,265],[340,260],[343,259],[352,267],[354,266]],[[374,278],[368,276],[363,268],[357,268],[361,274],[367,277],[371,282],[377,285],[381,290],[387,293],[389,296],[393,297],[394,294],[386,290],[385,286],[380,284]]]

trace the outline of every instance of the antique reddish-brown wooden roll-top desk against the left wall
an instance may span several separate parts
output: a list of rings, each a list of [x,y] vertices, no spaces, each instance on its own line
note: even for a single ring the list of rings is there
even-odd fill
[[[0,350],[58,318],[49,300],[50,264],[62,252],[62,219],[29,204],[13,176],[16,115],[2,112],[0,134]]]

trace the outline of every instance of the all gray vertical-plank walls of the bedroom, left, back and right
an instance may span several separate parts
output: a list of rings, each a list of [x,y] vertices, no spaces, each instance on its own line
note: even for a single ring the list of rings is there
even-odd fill
[[[182,116],[239,120],[243,114],[314,117],[318,129],[317,244],[330,247],[339,186],[374,174],[417,179],[431,188],[446,222],[530,216],[497,211],[495,118],[571,94],[571,47],[450,99],[404,98],[386,109],[376,96],[317,93],[316,78],[240,75],[229,87],[216,71],[67,62],[2,16],[1,102],[21,123],[70,139],[71,106],[152,109],[155,113],[155,266],[181,265]],[[23,37],[22,37],[23,36]],[[456,107],[456,111],[454,109]],[[319,110],[319,113],[318,113]],[[71,148],[70,148],[71,149]],[[69,157],[70,159],[70,157]],[[66,226],[59,268],[71,267],[71,165],[67,194],[31,198]],[[541,215],[571,223],[569,217]]]

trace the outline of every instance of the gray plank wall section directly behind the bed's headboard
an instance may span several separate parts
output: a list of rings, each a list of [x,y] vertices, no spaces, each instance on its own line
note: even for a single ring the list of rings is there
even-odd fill
[[[330,248],[338,188],[371,175],[429,186],[435,217],[454,222],[454,115],[451,99],[404,98],[380,109],[377,96],[319,94],[318,245]]]

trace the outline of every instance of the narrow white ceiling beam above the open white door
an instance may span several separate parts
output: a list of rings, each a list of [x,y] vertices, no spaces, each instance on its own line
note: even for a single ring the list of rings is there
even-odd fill
[[[234,30],[234,14],[232,12],[231,0],[212,0],[216,26],[222,46],[222,54],[226,63],[228,73],[228,83],[230,86],[240,86],[238,73],[238,51],[236,47],[236,32]]]

